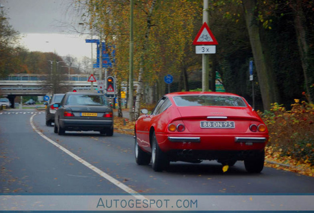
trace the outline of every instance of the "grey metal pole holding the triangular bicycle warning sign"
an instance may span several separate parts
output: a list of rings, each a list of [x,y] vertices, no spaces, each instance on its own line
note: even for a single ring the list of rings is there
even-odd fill
[[[203,0],[203,23],[208,23],[208,0]],[[209,71],[208,71],[209,54],[202,54],[202,91],[209,89]]]

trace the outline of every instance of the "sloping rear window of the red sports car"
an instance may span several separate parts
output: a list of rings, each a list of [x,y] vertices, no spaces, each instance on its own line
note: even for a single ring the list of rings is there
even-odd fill
[[[173,97],[177,106],[239,106],[246,107],[240,97],[227,95],[185,95]]]

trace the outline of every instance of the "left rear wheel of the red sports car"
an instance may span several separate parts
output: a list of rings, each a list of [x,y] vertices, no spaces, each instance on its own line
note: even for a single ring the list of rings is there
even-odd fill
[[[164,152],[158,146],[155,132],[152,136],[152,168],[155,172],[166,170],[169,166],[169,160]]]

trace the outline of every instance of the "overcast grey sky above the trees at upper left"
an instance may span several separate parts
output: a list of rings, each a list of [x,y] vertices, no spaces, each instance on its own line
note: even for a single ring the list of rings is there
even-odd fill
[[[78,20],[69,11],[72,0],[0,0],[21,43],[30,51],[56,52],[81,58],[91,57],[91,44],[79,34],[69,35],[60,22]],[[95,49],[96,47],[94,47]]]

